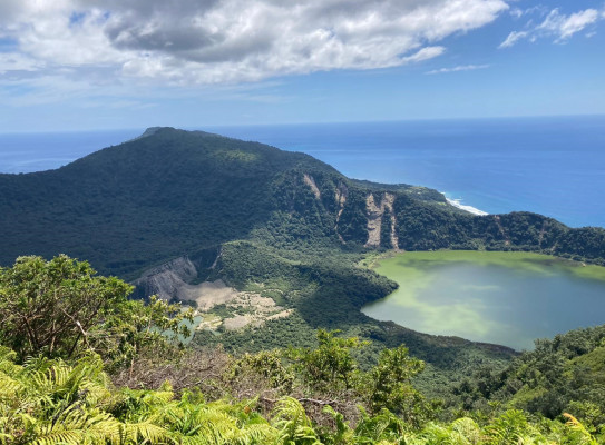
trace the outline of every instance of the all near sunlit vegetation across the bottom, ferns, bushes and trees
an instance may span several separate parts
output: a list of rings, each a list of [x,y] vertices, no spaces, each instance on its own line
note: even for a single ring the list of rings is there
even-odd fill
[[[91,288],[114,298],[87,330],[76,324],[84,338],[75,349],[71,342],[50,348],[33,344],[27,330],[2,330],[2,444],[579,445],[597,444],[605,434],[605,397],[597,385],[604,383],[605,327],[541,342],[496,378],[489,369],[481,370],[443,409],[443,402],[428,400],[413,387],[423,363],[403,346],[382,349],[368,370],[355,358],[368,342],[321,329],[314,348],[240,358],[221,349],[182,350],[169,342],[173,337],[159,334],[162,320],[177,328],[183,316],[176,308],[153,300],[137,301],[135,308],[124,305],[120,293],[128,286],[95,276],[86,263],[65,256],[48,263],[23,257],[13,268],[2,269],[1,277],[2,314],[12,327],[22,314],[32,313],[25,309],[53,305],[61,309],[46,312],[45,323],[70,326],[64,319],[69,306],[59,299],[49,303],[51,295],[62,293],[66,301],[79,301],[85,312],[99,304]],[[137,343],[129,362],[117,348],[96,347],[88,333],[106,327],[108,318],[133,317],[134,312],[137,317],[155,316],[145,320],[147,342]],[[74,314],[77,319],[85,313]],[[72,339],[72,330],[64,335]],[[130,334],[126,328],[118,337]],[[4,345],[27,345],[29,357]],[[110,364],[109,374],[104,364]],[[557,396],[566,404],[553,404]],[[470,397],[475,411],[460,412],[470,408]],[[498,405],[481,408],[481,400]],[[560,408],[569,408],[579,421]]]

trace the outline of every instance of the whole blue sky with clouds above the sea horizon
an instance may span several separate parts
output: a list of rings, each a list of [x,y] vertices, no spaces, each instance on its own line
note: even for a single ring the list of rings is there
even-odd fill
[[[0,0],[0,132],[605,113],[605,0]]]

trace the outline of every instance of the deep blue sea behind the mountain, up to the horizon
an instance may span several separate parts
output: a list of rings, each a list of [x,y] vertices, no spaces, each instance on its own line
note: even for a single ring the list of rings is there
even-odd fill
[[[489,214],[605,227],[605,116],[197,129],[303,151],[351,178],[431,187]],[[58,168],[143,131],[0,135],[0,171]]]

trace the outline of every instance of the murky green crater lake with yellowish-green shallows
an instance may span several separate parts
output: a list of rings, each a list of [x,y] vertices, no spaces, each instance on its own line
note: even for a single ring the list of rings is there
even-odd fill
[[[605,324],[605,267],[528,253],[420,251],[374,269],[399,284],[362,312],[433,335],[531,349],[534,339]]]

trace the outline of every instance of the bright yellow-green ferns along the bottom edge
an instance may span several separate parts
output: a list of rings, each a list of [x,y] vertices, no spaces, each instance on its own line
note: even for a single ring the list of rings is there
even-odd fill
[[[330,406],[328,427],[316,427],[304,407],[282,397],[263,417],[257,400],[207,403],[198,392],[176,397],[169,384],[157,390],[115,388],[98,356],[72,366],[61,359],[16,364],[0,348],[0,443],[2,444],[569,444],[597,441],[573,416],[566,424],[530,422],[508,411],[484,425],[465,417],[414,427],[388,409],[353,427]]]

